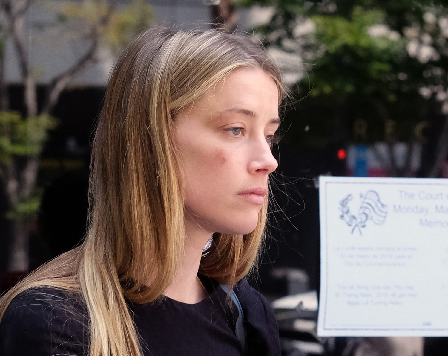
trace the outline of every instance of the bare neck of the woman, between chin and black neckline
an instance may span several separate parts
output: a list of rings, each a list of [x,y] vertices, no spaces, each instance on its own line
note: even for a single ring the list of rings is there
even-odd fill
[[[179,263],[177,274],[164,295],[178,302],[194,304],[205,299],[207,290],[198,278],[202,250],[210,238],[210,233],[200,226],[185,222],[185,250]]]

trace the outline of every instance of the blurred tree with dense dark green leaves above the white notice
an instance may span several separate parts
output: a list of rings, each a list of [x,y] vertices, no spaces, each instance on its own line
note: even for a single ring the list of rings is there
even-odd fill
[[[443,114],[448,114],[443,69],[448,60],[448,8],[441,2],[413,0],[239,1],[244,6],[255,3],[275,8],[270,22],[258,28],[265,36],[263,43],[288,55],[290,62],[295,58],[302,63],[297,77],[301,80],[293,91],[300,97],[309,95],[308,101],[339,108],[336,116],[319,118],[324,132],[332,128],[327,129],[327,141],[335,130],[340,132],[337,139],[343,140],[351,136],[347,127],[368,126],[369,134],[354,135],[353,141],[385,141],[388,157],[379,158],[389,161],[389,175],[408,175],[413,149],[424,140],[422,132],[429,125],[430,105],[439,101]],[[432,102],[425,102],[428,99]],[[338,120],[348,121],[345,132],[335,127]],[[446,158],[444,121],[430,176],[438,174]],[[290,133],[304,138],[303,132]],[[316,136],[307,137],[319,142]],[[408,147],[404,166],[397,164],[393,153],[398,141]]]

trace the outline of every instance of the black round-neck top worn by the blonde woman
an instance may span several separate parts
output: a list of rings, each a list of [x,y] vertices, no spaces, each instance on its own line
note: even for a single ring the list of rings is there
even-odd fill
[[[201,277],[209,296],[196,304],[164,298],[129,303],[144,356],[241,355],[235,336],[238,311],[216,281]],[[248,356],[279,356],[274,313],[266,299],[240,281],[234,288],[244,312]],[[86,306],[75,294],[52,287],[26,290],[10,303],[0,324],[0,356],[87,355]]]

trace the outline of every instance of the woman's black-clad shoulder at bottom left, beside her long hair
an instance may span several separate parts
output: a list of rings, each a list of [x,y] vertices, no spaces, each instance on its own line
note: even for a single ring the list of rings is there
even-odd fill
[[[9,303],[0,323],[0,354],[82,355],[88,318],[79,294],[42,286]]]

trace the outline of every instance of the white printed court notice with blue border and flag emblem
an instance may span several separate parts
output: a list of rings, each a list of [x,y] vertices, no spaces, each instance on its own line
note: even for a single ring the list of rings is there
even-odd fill
[[[319,179],[321,336],[448,336],[448,179]]]

